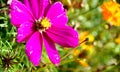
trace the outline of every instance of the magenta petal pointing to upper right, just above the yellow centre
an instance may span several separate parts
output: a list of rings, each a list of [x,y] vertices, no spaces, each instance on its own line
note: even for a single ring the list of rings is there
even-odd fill
[[[65,25],[68,22],[66,11],[61,2],[56,2],[50,7],[47,13],[47,18],[49,18],[54,25]]]

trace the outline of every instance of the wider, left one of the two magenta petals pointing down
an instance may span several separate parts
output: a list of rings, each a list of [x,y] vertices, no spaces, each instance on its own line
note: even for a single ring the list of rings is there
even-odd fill
[[[28,40],[25,51],[29,60],[38,66],[42,54],[42,36],[39,32],[35,32]]]

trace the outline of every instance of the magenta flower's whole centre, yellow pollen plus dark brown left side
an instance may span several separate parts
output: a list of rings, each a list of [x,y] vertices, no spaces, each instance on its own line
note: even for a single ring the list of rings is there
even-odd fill
[[[51,23],[48,18],[42,18],[40,21],[37,21],[36,23],[37,29],[40,31],[45,31],[49,27],[51,27]]]

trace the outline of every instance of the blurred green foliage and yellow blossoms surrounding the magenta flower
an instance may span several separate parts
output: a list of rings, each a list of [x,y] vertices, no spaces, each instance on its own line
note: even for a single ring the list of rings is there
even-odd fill
[[[61,55],[54,66],[43,48],[42,61],[34,67],[25,54],[25,43],[16,42],[16,28],[9,20],[7,0],[0,0],[0,72],[119,72],[120,0],[61,1],[68,25],[79,33],[75,49],[56,45]]]

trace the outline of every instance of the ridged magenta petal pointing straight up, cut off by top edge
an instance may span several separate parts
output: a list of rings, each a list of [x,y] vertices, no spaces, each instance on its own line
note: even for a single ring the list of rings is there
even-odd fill
[[[45,9],[50,5],[50,0],[23,0],[23,2],[31,8],[36,19],[42,17]]]

